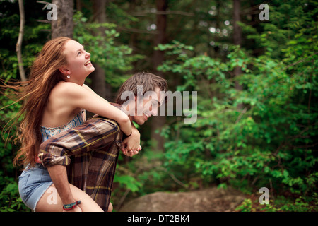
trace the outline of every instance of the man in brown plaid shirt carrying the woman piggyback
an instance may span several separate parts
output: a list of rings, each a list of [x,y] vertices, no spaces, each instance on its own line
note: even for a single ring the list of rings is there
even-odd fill
[[[160,91],[166,90],[167,82],[163,78],[136,73],[119,89],[117,107],[121,107],[131,121],[142,125],[157,114],[165,98]],[[116,121],[94,116],[40,145],[40,160],[47,167],[59,195],[54,203],[56,210],[63,210],[63,206],[64,210],[65,206],[69,207],[66,208],[69,211],[112,210],[110,195],[119,149],[129,156],[138,153],[129,150],[129,137],[122,141],[122,136]],[[77,197],[71,193],[70,186],[85,191],[90,198]],[[45,201],[50,195],[46,191],[41,199]],[[83,199],[82,202],[78,203],[78,198]],[[74,203],[64,203],[63,199]],[[42,202],[42,205],[49,204]]]

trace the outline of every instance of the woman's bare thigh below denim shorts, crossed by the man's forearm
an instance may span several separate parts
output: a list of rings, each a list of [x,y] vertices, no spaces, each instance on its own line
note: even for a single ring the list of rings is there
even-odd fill
[[[78,189],[73,184],[69,184],[71,193],[76,201],[81,200],[81,204],[78,206],[81,208],[83,212],[103,212],[102,208],[98,206],[95,201],[93,201],[88,194],[86,194],[81,189]],[[63,203],[59,194],[57,193],[57,189],[55,189],[54,184],[52,184],[45,194],[40,198],[40,201],[37,202],[37,206],[35,208],[36,212],[62,212],[63,211]]]

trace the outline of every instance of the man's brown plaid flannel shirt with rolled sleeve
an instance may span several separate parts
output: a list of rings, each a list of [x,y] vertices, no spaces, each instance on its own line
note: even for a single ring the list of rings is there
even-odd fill
[[[95,116],[43,142],[39,157],[45,167],[65,165],[69,183],[107,211],[122,135],[116,121]]]

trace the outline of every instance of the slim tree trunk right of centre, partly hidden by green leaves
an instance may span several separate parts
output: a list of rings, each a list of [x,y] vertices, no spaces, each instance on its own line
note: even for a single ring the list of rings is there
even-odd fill
[[[240,21],[240,0],[233,0],[233,43],[235,45],[242,44],[242,29],[240,25],[237,24],[237,21]],[[234,71],[234,76],[240,76],[242,74],[242,69],[240,66],[236,66]],[[237,90],[242,90],[242,85],[240,85],[237,81],[235,81],[235,88]],[[242,109],[242,104],[237,106],[237,109]]]

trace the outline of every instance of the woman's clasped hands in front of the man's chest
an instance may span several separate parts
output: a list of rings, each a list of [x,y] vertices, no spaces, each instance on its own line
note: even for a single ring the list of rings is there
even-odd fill
[[[140,133],[137,129],[133,129],[131,135],[125,138],[124,141],[122,141],[121,149],[124,155],[130,157],[139,153],[139,151],[141,150],[141,145]]]

